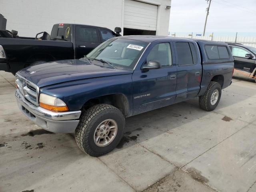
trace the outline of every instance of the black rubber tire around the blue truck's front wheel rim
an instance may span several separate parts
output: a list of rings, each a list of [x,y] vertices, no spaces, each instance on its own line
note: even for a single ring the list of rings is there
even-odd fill
[[[94,132],[104,120],[112,119],[118,128],[114,140],[107,146],[97,146],[94,142]],[[75,140],[78,147],[90,156],[101,156],[112,151],[124,134],[125,118],[118,108],[109,104],[97,104],[88,110],[84,110],[80,116],[80,122],[75,131]]]

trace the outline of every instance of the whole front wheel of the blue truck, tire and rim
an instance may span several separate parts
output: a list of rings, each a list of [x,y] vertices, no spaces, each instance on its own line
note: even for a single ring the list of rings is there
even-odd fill
[[[97,104],[82,112],[75,131],[76,144],[90,156],[106,154],[122,139],[124,125],[124,115],[118,108]]]

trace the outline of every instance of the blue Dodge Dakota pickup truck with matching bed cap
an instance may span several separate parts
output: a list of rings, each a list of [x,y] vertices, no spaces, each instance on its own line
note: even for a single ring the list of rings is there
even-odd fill
[[[125,118],[199,96],[212,111],[232,82],[228,44],[164,36],[111,38],[79,60],[16,73],[20,110],[55,133],[74,133],[79,148],[100,156],[120,142]]]

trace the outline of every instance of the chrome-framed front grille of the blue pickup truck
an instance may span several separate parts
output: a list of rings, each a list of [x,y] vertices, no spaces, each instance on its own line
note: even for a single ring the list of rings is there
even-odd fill
[[[34,105],[39,105],[38,104],[38,94],[39,94],[39,89],[38,86],[36,86],[34,83],[26,80],[22,76],[19,76],[16,74],[16,85],[22,95],[31,102]]]

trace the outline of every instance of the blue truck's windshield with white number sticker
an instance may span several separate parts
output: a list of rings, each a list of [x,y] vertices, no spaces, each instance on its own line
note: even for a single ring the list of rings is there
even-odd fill
[[[114,67],[133,69],[147,45],[144,41],[114,38],[100,44],[87,57],[92,62],[103,60]]]

